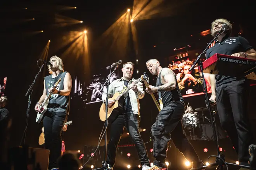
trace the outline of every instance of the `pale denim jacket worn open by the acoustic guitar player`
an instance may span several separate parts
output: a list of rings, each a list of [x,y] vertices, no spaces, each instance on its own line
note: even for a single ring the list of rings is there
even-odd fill
[[[129,81],[128,85],[130,85],[132,82],[134,82],[135,79],[133,78],[132,80]],[[106,97],[108,98],[112,97],[116,92],[121,92],[125,86],[123,77],[114,80],[112,83],[109,85],[109,92],[107,95],[106,88],[104,89],[104,92],[102,93],[102,102],[105,101]],[[137,83],[137,88],[138,92],[134,92],[132,89],[130,89],[129,92],[129,97],[131,101],[131,108],[133,111],[133,114],[140,114],[140,101],[139,99],[142,99],[145,95],[145,92],[143,90],[143,84],[142,82]]]

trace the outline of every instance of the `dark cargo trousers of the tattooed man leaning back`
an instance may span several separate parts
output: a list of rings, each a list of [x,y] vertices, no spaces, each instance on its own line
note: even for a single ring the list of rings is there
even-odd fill
[[[153,156],[156,158],[154,165],[166,167],[165,158],[168,142],[173,140],[176,148],[193,162],[193,167],[199,166],[202,162],[189,140],[183,134],[182,116],[185,111],[185,105],[180,102],[171,102],[163,107],[156,117],[156,122],[151,127],[153,143]]]

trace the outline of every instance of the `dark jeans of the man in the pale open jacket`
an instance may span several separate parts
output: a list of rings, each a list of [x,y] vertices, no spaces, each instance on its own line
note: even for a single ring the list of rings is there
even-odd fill
[[[107,147],[107,163],[111,167],[115,164],[116,151],[118,143],[123,134],[123,129],[126,127],[132,142],[138,152],[142,165],[150,166],[149,158],[144,141],[139,132],[139,116],[138,114],[120,114],[111,124],[110,140]]]

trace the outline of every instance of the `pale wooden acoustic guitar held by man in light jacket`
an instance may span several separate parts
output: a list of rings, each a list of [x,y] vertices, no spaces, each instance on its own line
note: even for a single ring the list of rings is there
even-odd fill
[[[138,82],[141,82],[142,79],[141,77],[138,79],[138,80],[135,80],[133,83],[137,84]],[[107,108],[107,120],[109,122],[112,122],[116,115],[112,115],[111,116],[111,113],[114,109],[116,109],[118,107],[118,100],[123,96],[125,95],[126,92],[128,92],[131,88],[130,87],[127,87],[123,92],[119,93],[119,92],[116,92],[114,93],[113,97],[112,98],[109,98],[108,100],[114,100],[114,104],[112,104],[111,106],[108,106]],[[102,103],[101,107],[100,107],[100,120],[101,121],[106,121],[106,104],[105,103]],[[111,117],[109,117],[111,116]]]

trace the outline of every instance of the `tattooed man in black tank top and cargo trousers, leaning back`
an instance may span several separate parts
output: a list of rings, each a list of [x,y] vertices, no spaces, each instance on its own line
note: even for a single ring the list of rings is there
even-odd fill
[[[153,156],[156,158],[153,170],[165,169],[166,150],[168,142],[173,140],[174,145],[183,153],[193,167],[201,167],[204,163],[199,159],[193,146],[183,134],[182,116],[185,111],[184,99],[181,95],[175,73],[170,68],[162,68],[157,59],[150,59],[146,63],[152,75],[157,76],[156,87],[149,85],[146,92],[158,93],[162,99],[163,109],[156,117],[156,122],[151,127],[153,143]]]

